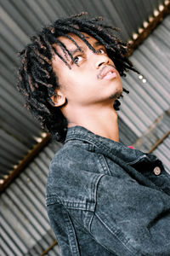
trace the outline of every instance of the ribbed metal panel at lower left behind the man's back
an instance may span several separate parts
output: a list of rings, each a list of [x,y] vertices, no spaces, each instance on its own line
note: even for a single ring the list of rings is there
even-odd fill
[[[48,166],[59,143],[50,143],[1,196],[3,255],[40,255],[55,240],[45,207]],[[48,255],[59,255],[56,253]]]

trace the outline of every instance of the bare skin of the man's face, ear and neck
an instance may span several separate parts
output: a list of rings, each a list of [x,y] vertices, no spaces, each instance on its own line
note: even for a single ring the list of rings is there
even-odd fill
[[[56,96],[52,96],[51,99],[55,107],[60,108],[65,115],[68,127],[81,125],[101,137],[119,142],[117,113],[113,103],[117,96],[122,94],[121,77],[113,61],[106,54],[105,47],[96,44],[95,38],[83,34],[98,53],[89,49],[75,34],[69,35],[82,48],[82,52],[76,51],[77,47],[68,38],[59,37],[59,41],[65,44],[67,49],[76,51],[72,55],[77,64],[72,63],[69,55],[65,57],[59,45],[54,45],[71,69],[54,55],[52,66],[59,79],[59,89],[55,90]],[[99,73],[108,66],[114,68],[116,78],[101,79]]]

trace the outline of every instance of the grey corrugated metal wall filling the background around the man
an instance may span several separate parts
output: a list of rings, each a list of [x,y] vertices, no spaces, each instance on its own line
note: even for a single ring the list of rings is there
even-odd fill
[[[16,52],[27,44],[28,35],[56,17],[75,14],[83,9],[90,15],[107,17],[112,24],[122,28],[122,38],[127,40],[163,2],[0,1],[0,178],[8,174],[42,137],[39,125],[22,107],[23,100],[14,89],[14,73],[18,66]],[[135,144],[144,137],[139,148],[149,150],[169,130],[169,116],[165,114],[170,102],[169,38],[170,18],[167,17],[131,56],[147,83],[133,73],[123,79],[124,87],[130,90],[130,94],[124,96],[122,111],[119,112],[120,141],[126,145]],[[159,126],[156,119],[160,119]],[[154,123],[155,133],[152,132],[150,137],[148,134]],[[169,141],[170,137],[166,137],[153,151],[163,160],[167,171],[170,170]],[[53,243],[54,233],[50,230],[45,209],[45,184],[49,161],[59,147],[57,143],[49,143],[1,196],[2,255],[40,255]],[[55,246],[47,254],[59,255],[59,247]]]

